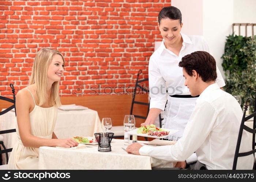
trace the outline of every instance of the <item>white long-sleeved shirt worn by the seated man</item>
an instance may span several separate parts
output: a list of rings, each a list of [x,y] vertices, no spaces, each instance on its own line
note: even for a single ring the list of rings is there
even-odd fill
[[[185,161],[196,151],[207,169],[232,169],[242,110],[237,100],[211,84],[196,101],[183,137],[172,146],[143,146],[140,155],[167,161]],[[240,153],[252,150],[249,134],[243,131]],[[239,157],[237,169],[252,169],[253,155]]]

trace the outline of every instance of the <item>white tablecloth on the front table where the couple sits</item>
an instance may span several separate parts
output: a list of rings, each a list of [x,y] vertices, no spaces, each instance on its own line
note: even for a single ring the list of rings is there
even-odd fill
[[[146,141],[139,141],[147,143]],[[39,169],[148,169],[151,167],[174,167],[176,162],[168,162],[149,156],[128,154],[121,147],[124,141],[113,139],[110,152],[99,152],[98,145],[87,145],[84,149],[39,148]]]

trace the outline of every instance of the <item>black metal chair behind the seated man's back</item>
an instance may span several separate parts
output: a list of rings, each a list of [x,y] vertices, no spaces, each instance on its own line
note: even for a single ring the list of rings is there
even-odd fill
[[[242,116],[242,122],[241,122],[239,133],[238,133],[237,146],[236,146],[233,168],[232,168],[233,170],[236,169],[238,157],[244,157],[244,156],[251,155],[251,154],[253,154],[253,169],[256,170],[256,165],[255,165],[256,99],[255,99],[255,103],[254,103],[254,112],[251,115],[245,117],[245,112],[247,111],[248,106],[250,106],[251,104],[252,104],[252,98],[248,98],[244,105],[244,115]],[[245,121],[247,121],[251,118],[253,118],[253,128],[250,128],[245,125]],[[246,131],[252,133],[252,150],[248,151],[248,152],[244,152],[244,153],[239,153],[243,130],[246,130]]]

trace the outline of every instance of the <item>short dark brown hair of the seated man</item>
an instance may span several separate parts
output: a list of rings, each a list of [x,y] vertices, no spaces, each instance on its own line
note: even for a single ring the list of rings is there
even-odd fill
[[[196,51],[184,56],[179,63],[189,76],[195,70],[204,82],[215,81],[217,78],[216,61],[208,52]]]

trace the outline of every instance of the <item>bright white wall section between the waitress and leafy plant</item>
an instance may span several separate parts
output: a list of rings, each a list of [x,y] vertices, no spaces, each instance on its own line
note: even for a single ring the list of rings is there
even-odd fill
[[[203,1],[203,36],[222,76],[225,74],[221,56],[224,54],[226,36],[232,33],[233,14],[233,0]]]

